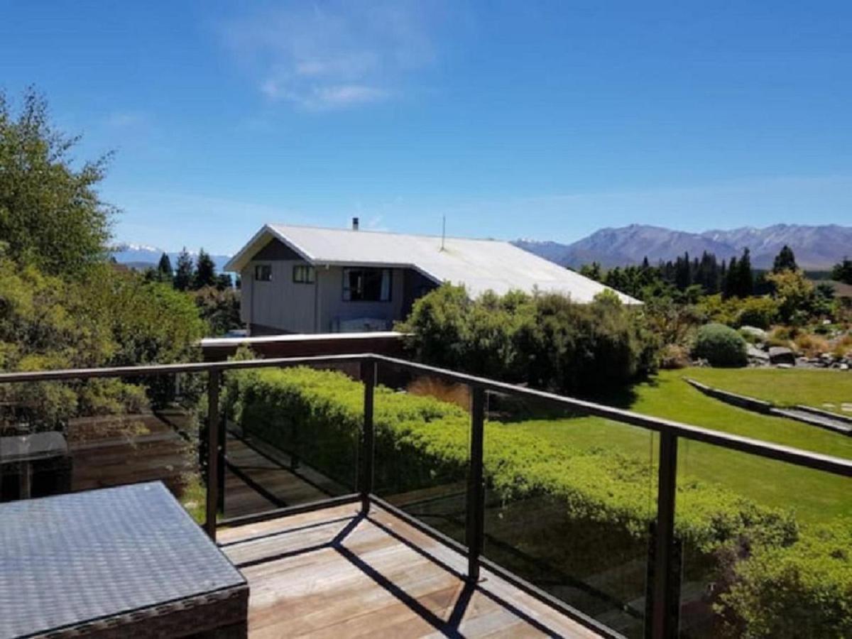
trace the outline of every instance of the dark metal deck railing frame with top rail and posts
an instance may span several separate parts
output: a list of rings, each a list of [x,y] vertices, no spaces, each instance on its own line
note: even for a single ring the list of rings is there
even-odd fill
[[[334,498],[323,499],[310,504],[301,504],[289,508],[269,510],[256,515],[234,518],[222,521],[219,510],[224,491],[224,466],[226,463],[225,441],[226,433],[224,420],[220,414],[220,389],[222,375],[227,371],[260,369],[289,366],[359,366],[360,379],[364,384],[364,420],[360,436],[360,468],[357,469],[358,490]],[[444,533],[429,527],[423,521],[406,513],[404,510],[389,504],[383,498],[374,494],[374,456],[375,429],[373,412],[375,405],[375,389],[377,385],[377,366],[383,369],[393,369],[409,374],[433,377],[447,383],[462,384],[469,389],[470,396],[470,450],[469,469],[466,488],[466,518],[464,544],[449,538]],[[394,359],[377,354],[343,354],[321,357],[296,357],[267,360],[239,360],[192,364],[174,364],[160,366],[129,366],[114,368],[78,369],[66,371],[35,371],[0,374],[0,384],[7,383],[43,383],[67,382],[93,378],[125,378],[152,377],[176,374],[205,373],[207,375],[207,429],[206,451],[216,452],[206,456],[206,520],[204,528],[211,538],[216,538],[216,527],[223,523],[236,524],[248,521],[259,521],[273,517],[303,512],[313,509],[327,508],[335,504],[346,504],[359,501],[365,509],[371,504],[379,504],[383,508],[394,511],[412,525],[426,533],[439,538],[468,556],[467,577],[472,582],[480,578],[481,566],[498,573],[504,579],[509,579],[523,590],[538,596],[551,605],[565,609],[564,604],[554,596],[539,590],[533,584],[509,573],[492,561],[482,556],[485,540],[485,511],[486,485],[484,472],[483,441],[486,423],[486,394],[496,393],[509,395],[524,400],[536,401],[556,409],[583,412],[596,417],[603,417],[616,423],[624,423],[652,433],[659,434],[657,449],[657,506],[654,521],[653,548],[648,553],[653,565],[648,567],[651,583],[648,584],[650,606],[645,619],[646,636],[671,637],[676,636],[678,628],[679,588],[676,575],[676,537],[675,511],[677,488],[677,459],[678,445],[682,440],[699,441],[712,446],[719,446],[731,451],[744,452],[752,456],[790,463],[795,466],[815,469],[832,475],[852,477],[852,461],[835,458],[815,452],[807,452],[789,446],[780,446],[762,440],[754,440],[738,435],[729,435],[711,429],[677,423],[659,417],[649,417],[636,412],[630,412],[612,406],[603,406],[594,402],[574,399],[571,397],[552,394],[535,389],[527,389],[509,383],[501,383],[492,379],[466,375],[456,371],[425,366],[411,361]],[[567,540],[570,544],[570,540]],[[576,619],[590,625],[602,635],[617,636],[618,633],[607,629],[599,622],[590,619],[576,610],[567,610]]]

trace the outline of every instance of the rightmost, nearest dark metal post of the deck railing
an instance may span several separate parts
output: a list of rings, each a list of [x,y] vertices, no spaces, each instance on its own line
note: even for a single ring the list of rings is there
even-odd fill
[[[651,625],[653,639],[677,636],[680,594],[674,574],[675,498],[677,486],[677,437],[665,431],[659,434],[659,481],[657,487],[656,544],[653,551],[653,601]]]

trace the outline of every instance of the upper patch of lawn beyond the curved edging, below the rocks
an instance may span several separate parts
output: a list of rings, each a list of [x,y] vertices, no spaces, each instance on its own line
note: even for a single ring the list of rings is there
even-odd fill
[[[804,404],[852,416],[852,412],[841,410],[843,404],[852,405],[849,371],[689,368],[676,374],[693,377],[717,389],[771,401],[776,406]]]

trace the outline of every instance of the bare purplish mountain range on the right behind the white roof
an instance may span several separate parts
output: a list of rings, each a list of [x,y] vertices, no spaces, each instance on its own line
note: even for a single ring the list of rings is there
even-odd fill
[[[747,246],[755,268],[770,268],[781,247],[790,245],[798,265],[810,270],[831,268],[852,255],[852,227],[838,225],[803,226],[776,224],[766,228],[742,227],[729,231],[714,230],[687,233],[670,228],[631,224],[629,227],[602,228],[573,244],[537,242],[519,239],[514,242],[551,262],[578,268],[600,262],[606,268],[639,264],[648,256],[651,263],[673,260],[688,252],[700,256],[703,251],[715,253],[719,259],[739,256]]]

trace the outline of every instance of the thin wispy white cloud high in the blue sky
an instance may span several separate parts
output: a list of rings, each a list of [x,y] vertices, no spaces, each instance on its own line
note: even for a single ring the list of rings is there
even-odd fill
[[[325,111],[400,95],[435,60],[433,22],[424,4],[403,0],[289,3],[220,31],[269,101]]]

